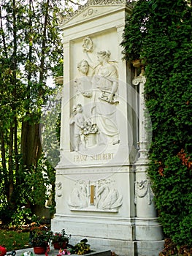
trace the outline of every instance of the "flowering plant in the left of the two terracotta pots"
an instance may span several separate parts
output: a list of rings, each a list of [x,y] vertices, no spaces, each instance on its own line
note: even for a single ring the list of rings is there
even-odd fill
[[[47,226],[40,225],[40,226],[32,226],[30,231],[29,243],[32,246],[43,246],[47,247],[50,239],[53,236],[53,232],[48,230]]]

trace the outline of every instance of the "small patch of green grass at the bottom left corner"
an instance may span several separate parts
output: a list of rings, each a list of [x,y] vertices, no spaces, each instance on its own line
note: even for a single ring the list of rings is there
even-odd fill
[[[0,245],[6,247],[7,252],[28,248],[29,232],[0,230]]]

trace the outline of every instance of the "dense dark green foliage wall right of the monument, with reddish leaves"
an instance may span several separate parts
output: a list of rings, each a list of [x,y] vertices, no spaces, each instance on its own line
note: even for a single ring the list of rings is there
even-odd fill
[[[147,63],[145,99],[153,126],[148,175],[155,205],[166,236],[179,246],[191,246],[191,5],[184,0],[139,0],[128,20],[125,57],[132,58],[133,41]],[[145,22],[139,28],[141,20]],[[139,31],[132,34],[134,29]]]

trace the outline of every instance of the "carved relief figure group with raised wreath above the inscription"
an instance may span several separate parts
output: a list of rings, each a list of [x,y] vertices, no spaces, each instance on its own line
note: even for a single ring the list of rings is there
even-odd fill
[[[111,60],[110,50],[93,52],[91,38],[82,42],[85,59],[77,63],[78,76],[74,79],[72,113],[72,151],[85,150],[102,144],[120,143],[116,108],[118,101],[118,63]]]

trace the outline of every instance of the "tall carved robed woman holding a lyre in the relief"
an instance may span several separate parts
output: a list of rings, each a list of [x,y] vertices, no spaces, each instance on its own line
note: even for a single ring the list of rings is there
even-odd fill
[[[100,132],[107,136],[108,143],[120,143],[116,121],[116,94],[118,91],[118,69],[110,61],[110,51],[97,53],[99,65],[93,75],[94,99],[92,113]]]

